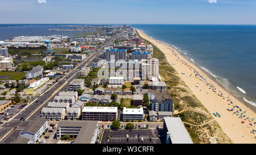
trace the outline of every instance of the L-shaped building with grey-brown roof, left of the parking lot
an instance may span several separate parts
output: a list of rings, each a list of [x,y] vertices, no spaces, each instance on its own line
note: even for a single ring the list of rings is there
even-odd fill
[[[76,137],[75,144],[95,144],[98,133],[97,121],[61,120],[56,129],[57,139],[68,134]]]

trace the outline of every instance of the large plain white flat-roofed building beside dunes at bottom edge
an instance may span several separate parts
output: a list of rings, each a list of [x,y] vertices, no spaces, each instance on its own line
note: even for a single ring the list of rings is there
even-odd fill
[[[164,142],[166,144],[193,144],[180,118],[163,118]]]

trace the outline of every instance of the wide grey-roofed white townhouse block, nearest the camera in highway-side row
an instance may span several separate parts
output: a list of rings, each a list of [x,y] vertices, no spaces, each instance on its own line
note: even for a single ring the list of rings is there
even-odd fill
[[[53,120],[62,120],[65,118],[65,108],[48,108],[43,107],[41,111],[41,117]]]

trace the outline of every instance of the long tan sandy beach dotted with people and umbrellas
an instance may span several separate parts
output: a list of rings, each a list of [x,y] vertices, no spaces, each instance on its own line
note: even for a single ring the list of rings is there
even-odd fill
[[[256,122],[254,119],[256,114],[254,110],[236,99],[219,83],[205,74],[202,69],[183,57],[175,48],[152,39],[141,30],[135,30],[139,32],[141,37],[155,44],[166,55],[167,61],[176,69],[179,77],[207,108],[222,130],[232,140],[232,143],[256,143],[256,134],[250,133],[252,129],[256,129],[254,124]],[[227,110],[232,110],[232,108],[233,111]],[[214,116],[213,112],[218,112],[221,117]]]

